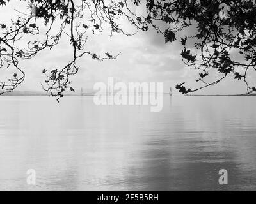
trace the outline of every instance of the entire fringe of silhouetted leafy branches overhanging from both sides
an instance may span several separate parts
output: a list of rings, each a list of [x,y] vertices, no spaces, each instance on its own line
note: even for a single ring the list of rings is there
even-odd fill
[[[256,5],[254,1],[217,1],[217,0],[29,0],[31,15],[19,13],[11,25],[0,22],[0,69],[13,66],[17,71],[7,82],[0,81],[4,92],[13,91],[24,81],[25,73],[19,66],[19,59],[31,59],[41,50],[52,48],[66,33],[73,49],[72,61],[63,68],[44,69],[47,79],[42,87],[52,96],[63,96],[63,91],[70,84],[70,76],[76,75],[79,67],[77,59],[91,55],[93,59],[115,59],[117,55],[105,53],[105,57],[84,50],[86,32],[93,33],[103,30],[102,24],[111,27],[113,33],[125,33],[118,19],[127,18],[137,29],[148,31],[149,27],[163,34],[166,43],[177,40],[182,36],[181,56],[189,68],[199,69],[201,83],[196,89],[187,89],[184,82],[176,88],[182,94],[198,91],[210,85],[218,84],[228,75],[234,75],[235,80],[243,80],[248,92],[255,91],[255,86],[248,83],[248,71],[256,70]],[[9,1],[0,0],[0,6],[6,6]],[[225,3],[225,4],[223,4]],[[147,11],[146,15],[135,12],[132,8],[141,6]],[[33,10],[34,15],[33,15]],[[44,20],[44,28],[39,27],[38,21]],[[57,23],[58,22],[58,23]],[[88,22],[88,23],[87,23]],[[167,25],[163,29],[161,24]],[[42,25],[40,25],[42,26]],[[58,27],[58,32],[53,32]],[[44,40],[28,41],[27,47],[20,48],[17,41],[24,36],[36,36],[47,29]],[[183,31],[183,32],[180,32]],[[186,31],[186,32],[184,32]],[[179,34],[180,33],[180,34]],[[184,35],[184,34],[183,34]],[[240,56],[240,57],[237,57]],[[207,78],[212,71],[218,71],[215,80]],[[211,77],[212,78],[212,77]],[[69,87],[70,91],[74,91]]]

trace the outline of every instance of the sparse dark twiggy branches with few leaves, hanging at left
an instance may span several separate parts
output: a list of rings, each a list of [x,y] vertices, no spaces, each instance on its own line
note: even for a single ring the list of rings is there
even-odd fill
[[[85,34],[89,29],[93,33],[102,31],[103,22],[111,27],[111,35],[114,32],[124,33],[115,22],[117,16],[122,13],[123,4],[114,1],[106,3],[102,0],[25,0],[24,2],[28,3],[28,15],[19,12],[16,20],[10,20],[10,25],[0,24],[0,68],[12,66],[17,69],[13,78],[0,81],[2,89],[0,94],[13,91],[24,81],[25,73],[24,68],[19,66],[20,59],[31,59],[45,48],[51,50],[59,43],[63,34],[67,34],[70,40],[73,49],[72,60],[63,68],[49,68],[42,71],[47,77],[42,87],[52,96],[63,96],[63,91],[70,84],[70,76],[76,75],[79,70],[79,66],[76,64],[77,59],[84,55],[91,55],[93,59],[98,61],[116,58],[117,55],[111,55],[108,52],[104,57],[101,57],[90,50],[84,50],[87,41]],[[8,3],[9,1],[0,1],[0,6],[7,6]],[[88,25],[81,23],[82,21],[88,22]],[[44,40],[28,41],[26,46],[22,48],[17,45],[27,35],[37,36],[41,34],[42,36],[45,29]],[[74,92],[74,89],[70,87],[70,91]]]

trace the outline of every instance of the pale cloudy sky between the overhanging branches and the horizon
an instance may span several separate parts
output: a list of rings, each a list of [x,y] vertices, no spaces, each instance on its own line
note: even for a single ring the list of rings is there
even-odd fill
[[[13,8],[20,9],[20,3],[12,1],[10,7],[0,8],[0,24],[17,15]],[[136,31],[127,20],[122,20],[122,25],[127,32]],[[188,34],[184,31],[180,36]],[[180,52],[180,36],[174,43],[165,43],[164,36],[157,34],[154,29],[148,32],[139,31],[133,36],[114,34],[109,37],[106,28],[102,33],[88,33],[86,50],[104,56],[106,52],[117,55],[117,59],[110,61],[95,61],[90,56],[84,56],[77,61],[80,70],[72,77],[72,87],[80,90],[92,90],[96,82],[108,82],[108,77],[114,77],[115,82],[163,82],[164,92],[170,87],[181,82],[186,82],[191,88],[199,87],[195,82],[198,79],[198,71],[186,68],[182,62]],[[67,36],[63,36],[60,43],[52,48],[40,52],[33,59],[20,61],[20,66],[26,73],[26,79],[17,89],[19,91],[41,91],[40,82],[45,81],[43,69],[61,68],[72,59],[72,47]],[[212,75],[212,80],[220,77],[218,73]],[[6,77],[0,70],[0,78]],[[173,89],[177,93],[177,90]],[[246,92],[243,82],[234,80],[234,76],[227,78],[218,85],[198,91],[195,94],[241,94]]]

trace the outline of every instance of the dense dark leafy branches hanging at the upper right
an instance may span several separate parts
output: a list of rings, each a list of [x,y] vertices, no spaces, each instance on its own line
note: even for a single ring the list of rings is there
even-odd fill
[[[181,55],[186,66],[201,70],[196,80],[201,85],[186,89],[182,83],[176,87],[179,92],[198,91],[218,84],[228,75],[243,80],[248,92],[255,91],[247,80],[249,70],[256,71],[255,1],[152,0],[147,1],[147,9],[150,24],[162,21],[169,25],[164,31],[153,25],[164,34],[166,43],[174,41],[181,30],[188,33],[181,38]],[[215,74],[211,69],[219,74],[209,77]],[[207,78],[215,80],[209,82]]]

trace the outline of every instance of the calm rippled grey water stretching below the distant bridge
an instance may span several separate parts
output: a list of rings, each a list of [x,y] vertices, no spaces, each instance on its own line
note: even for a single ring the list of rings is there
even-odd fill
[[[0,190],[256,190],[256,97],[0,98]],[[228,185],[218,171],[228,170]],[[36,170],[36,186],[26,171]]]

